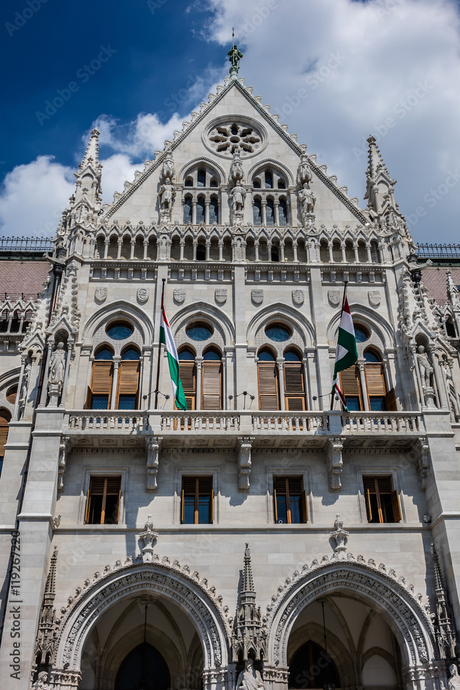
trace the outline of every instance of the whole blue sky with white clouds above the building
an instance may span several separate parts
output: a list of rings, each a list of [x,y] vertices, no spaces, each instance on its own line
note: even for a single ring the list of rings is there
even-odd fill
[[[0,235],[52,236],[89,132],[103,197],[240,75],[361,200],[379,146],[419,242],[460,243],[460,7],[454,0],[3,3]]]

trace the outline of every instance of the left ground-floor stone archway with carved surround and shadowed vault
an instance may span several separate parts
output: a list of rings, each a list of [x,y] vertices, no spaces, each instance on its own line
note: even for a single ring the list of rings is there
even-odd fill
[[[191,656],[197,660],[206,678],[214,678],[214,688],[219,687],[219,680],[225,682],[229,631],[217,603],[185,573],[168,564],[144,563],[108,573],[74,602],[59,625],[51,687],[61,687],[64,677],[66,686],[79,687],[82,670],[83,675],[87,670],[88,647],[91,647],[97,657],[94,682],[100,684],[103,678],[103,689],[112,690],[119,663],[142,642],[144,618],[143,613],[139,616],[137,609],[143,611],[145,604],[156,612],[157,618],[163,615],[169,622],[169,638],[168,634],[160,634],[161,626],[152,620],[147,622],[146,631],[148,642],[165,655],[168,666],[173,669],[172,676],[174,673],[181,675],[180,669],[187,668]],[[108,622],[101,624],[104,617]],[[118,626],[120,631],[115,634],[117,620],[121,618],[124,623]],[[186,627],[188,641],[184,644],[181,631]],[[108,628],[110,632],[106,633]],[[87,676],[90,678],[88,673]],[[85,680],[83,684],[90,688],[91,682]],[[197,687],[200,682],[201,678]]]

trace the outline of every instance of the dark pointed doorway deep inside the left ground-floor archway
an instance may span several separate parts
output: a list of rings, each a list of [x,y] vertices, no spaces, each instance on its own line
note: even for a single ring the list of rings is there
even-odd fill
[[[142,642],[126,655],[115,680],[115,690],[168,690],[170,687],[168,664],[148,642]]]

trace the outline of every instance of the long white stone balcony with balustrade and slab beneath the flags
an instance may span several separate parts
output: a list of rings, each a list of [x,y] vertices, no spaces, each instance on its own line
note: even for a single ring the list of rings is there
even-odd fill
[[[161,436],[164,446],[233,447],[238,437],[253,446],[322,448],[330,437],[344,446],[410,448],[425,435],[418,412],[281,411],[68,411],[63,434],[72,446],[137,446]],[[126,441],[129,439],[128,441]],[[377,441],[377,442],[376,442]]]

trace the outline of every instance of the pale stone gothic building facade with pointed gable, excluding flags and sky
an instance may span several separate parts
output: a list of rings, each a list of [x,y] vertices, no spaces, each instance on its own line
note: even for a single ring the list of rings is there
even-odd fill
[[[361,208],[237,66],[103,206],[98,135],[1,248],[2,689],[458,688],[459,292],[376,141]]]

